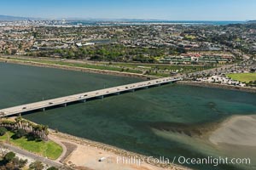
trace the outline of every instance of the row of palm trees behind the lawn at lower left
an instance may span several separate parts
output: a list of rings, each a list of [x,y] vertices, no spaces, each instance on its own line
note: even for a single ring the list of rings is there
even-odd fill
[[[21,116],[16,117],[15,122],[9,121],[9,120],[2,120],[0,122],[0,126],[7,127],[12,130],[18,130],[19,133],[17,134],[21,136],[23,132],[26,132],[26,133],[32,133],[33,135],[35,135],[40,139],[48,140],[48,134],[49,134],[48,126],[34,124],[25,119],[22,119]],[[20,129],[22,129],[23,132]]]

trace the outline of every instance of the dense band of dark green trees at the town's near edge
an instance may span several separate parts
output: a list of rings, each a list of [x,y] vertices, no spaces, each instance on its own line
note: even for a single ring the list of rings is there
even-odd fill
[[[28,55],[37,57],[60,56],[65,59],[85,59],[97,61],[139,61],[154,63],[155,58],[163,57],[166,53],[180,54],[177,48],[142,48],[125,47],[121,44],[102,44],[80,48],[55,49],[32,52]]]

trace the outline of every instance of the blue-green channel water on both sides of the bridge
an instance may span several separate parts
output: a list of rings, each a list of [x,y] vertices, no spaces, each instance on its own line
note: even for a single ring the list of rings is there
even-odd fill
[[[0,108],[40,100],[42,96],[49,99],[99,89],[104,83],[110,87],[140,81],[3,63],[0,79]],[[200,134],[226,117],[250,114],[256,114],[256,94],[170,84],[24,117],[63,133],[172,160],[174,156],[226,156]],[[253,169],[255,162],[241,167],[186,166]]]

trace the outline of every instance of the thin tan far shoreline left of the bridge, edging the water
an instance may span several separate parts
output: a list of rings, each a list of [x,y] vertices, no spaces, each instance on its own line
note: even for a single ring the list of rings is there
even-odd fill
[[[84,68],[84,67],[77,67],[77,66],[68,66],[68,65],[46,64],[46,63],[40,63],[35,61],[18,60],[18,59],[12,59],[12,58],[8,59],[8,58],[3,58],[2,56],[0,56],[0,63],[31,65],[31,66],[38,66],[43,68],[55,68],[55,69],[61,69],[61,70],[67,70],[67,71],[82,71],[82,72],[89,72],[89,73],[96,73],[96,74],[103,74],[103,75],[113,75],[113,76],[119,76],[119,77],[134,77],[134,78],[140,78],[143,80],[158,78],[158,77],[137,74],[137,73],[108,71],[108,70],[100,70],[100,69]]]

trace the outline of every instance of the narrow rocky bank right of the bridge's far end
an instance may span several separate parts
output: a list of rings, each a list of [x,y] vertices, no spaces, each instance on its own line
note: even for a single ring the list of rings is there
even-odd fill
[[[197,86],[203,88],[224,88],[228,90],[237,90],[249,93],[256,93],[256,88],[247,88],[247,87],[236,87],[230,86],[225,84],[218,84],[218,83],[209,83],[209,82],[189,82],[189,81],[179,81],[178,84],[190,85],[190,86]]]

